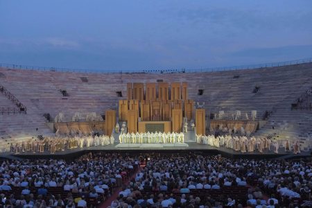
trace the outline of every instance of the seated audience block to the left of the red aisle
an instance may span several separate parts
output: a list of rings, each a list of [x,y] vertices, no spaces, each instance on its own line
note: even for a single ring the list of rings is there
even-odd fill
[[[121,186],[138,157],[89,153],[77,159],[5,160],[0,164],[0,206],[90,207]]]

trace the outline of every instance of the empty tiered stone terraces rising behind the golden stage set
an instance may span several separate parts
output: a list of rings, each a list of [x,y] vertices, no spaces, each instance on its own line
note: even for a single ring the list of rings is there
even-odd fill
[[[269,123],[272,119],[277,123],[289,123],[289,126],[293,126],[288,128],[293,134],[291,137],[307,137],[309,126],[312,126],[311,112],[291,111],[291,103],[311,87],[311,63],[205,73],[74,73],[4,68],[0,68],[0,72],[5,74],[0,77],[1,85],[27,107],[26,115],[0,115],[1,137],[39,135],[37,131],[34,132],[35,128],[42,133],[51,132],[44,125],[46,120],[43,114],[46,113],[54,118],[63,112],[69,120],[75,112],[83,115],[89,112],[103,114],[116,106],[119,99],[125,99],[126,83],[155,83],[157,80],[187,82],[189,98],[205,101],[207,115],[219,110],[225,113],[241,110],[245,118],[245,112],[250,116],[251,110],[257,110],[261,119],[266,110],[272,110]],[[88,82],[83,83],[80,78],[87,78]],[[256,85],[260,90],[254,94],[252,90]],[[198,95],[198,89],[204,89],[202,96]],[[60,90],[66,90],[69,96],[64,97]],[[121,91],[124,97],[117,97],[117,91]],[[0,105],[6,103],[3,99],[0,102]],[[269,123],[258,134],[268,135]]]

